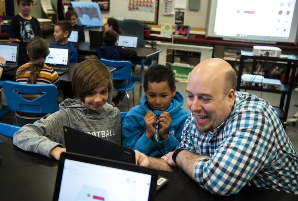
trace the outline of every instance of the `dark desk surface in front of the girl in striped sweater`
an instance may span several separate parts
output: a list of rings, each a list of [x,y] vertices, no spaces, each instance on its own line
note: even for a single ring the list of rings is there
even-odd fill
[[[59,80],[62,81],[62,82],[63,81],[71,82],[72,81],[72,75],[74,73],[75,68],[77,67],[77,64],[78,63],[70,62],[68,72],[63,74],[63,75],[59,75]],[[108,68],[110,69],[110,72],[113,72],[116,69],[115,67],[108,67]],[[17,69],[13,69],[13,70],[3,72],[2,80],[12,80],[15,77],[16,71],[17,71]]]

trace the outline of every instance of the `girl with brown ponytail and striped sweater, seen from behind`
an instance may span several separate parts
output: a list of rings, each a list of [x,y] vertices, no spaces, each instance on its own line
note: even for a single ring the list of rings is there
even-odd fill
[[[59,83],[58,73],[45,64],[46,56],[49,55],[49,46],[43,38],[35,36],[27,45],[27,54],[30,62],[18,68],[15,76],[15,81],[27,84],[55,84]],[[26,96],[21,95],[27,100],[34,100],[40,95]],[[33,114],[16,112],[18,125],[24,126],[27,123],[34,123],[40,118],[46,118],[50,114]]]

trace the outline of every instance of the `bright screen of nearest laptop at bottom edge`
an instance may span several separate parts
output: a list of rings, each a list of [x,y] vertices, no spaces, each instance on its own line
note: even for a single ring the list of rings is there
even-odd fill
[[[65,159],[59,200],[148,200],[151,175]]]

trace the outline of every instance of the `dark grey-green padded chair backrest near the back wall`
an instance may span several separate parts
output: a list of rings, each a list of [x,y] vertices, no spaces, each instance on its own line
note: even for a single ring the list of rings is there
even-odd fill
[[[143,47],[144,26],[141,21],[133,19],[119,21],[119,27],[122,29],[124,34],[138,35],[137,47]]]

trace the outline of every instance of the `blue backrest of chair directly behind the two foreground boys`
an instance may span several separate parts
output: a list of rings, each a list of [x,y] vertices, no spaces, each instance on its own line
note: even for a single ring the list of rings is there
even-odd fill
[[[113,72],[114,80],[129,80],[131,78],[131,62],[130,61],[113,61],[108,59],[100,59],[105,65],[115,67]]]

